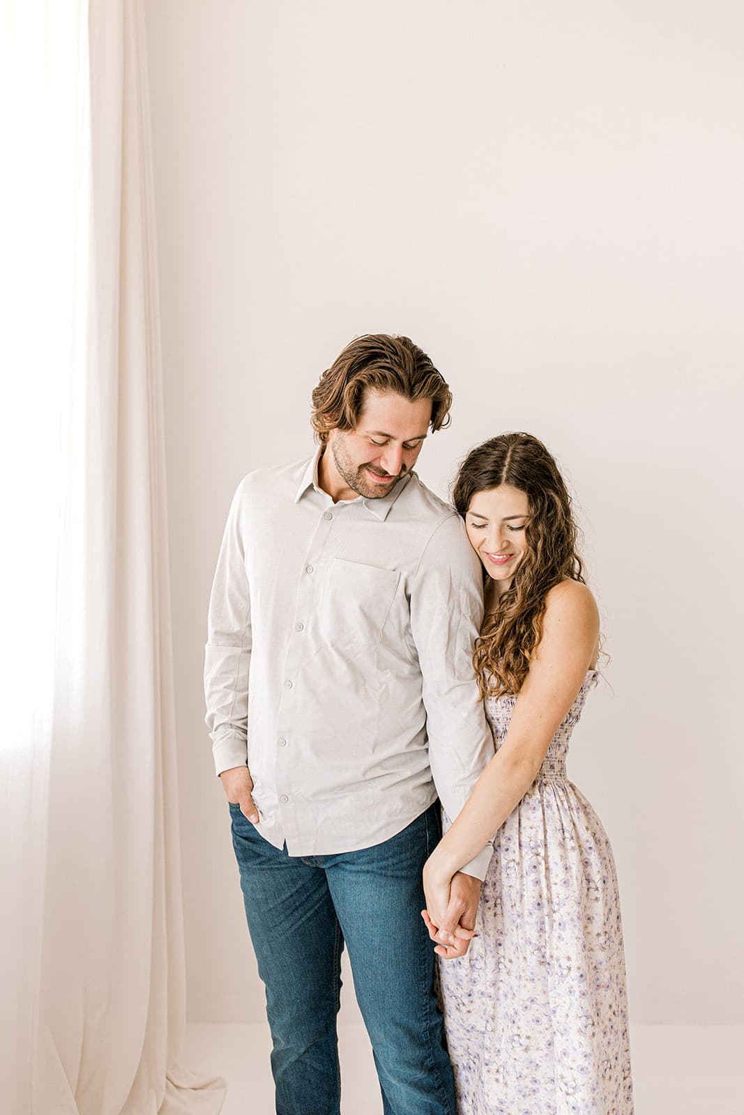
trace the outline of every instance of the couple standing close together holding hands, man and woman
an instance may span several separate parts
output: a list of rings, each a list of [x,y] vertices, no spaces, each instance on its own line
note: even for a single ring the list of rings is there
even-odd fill
[[[340,1111],[346,946],[386,1115],[631,1115],[612,853],[566,778],[599,648],[570,497],[506,434],[437,498],[413,468],[451,403],[408,338],[358,338],[318,452],[230,510],[206,719],[277,1113]]]

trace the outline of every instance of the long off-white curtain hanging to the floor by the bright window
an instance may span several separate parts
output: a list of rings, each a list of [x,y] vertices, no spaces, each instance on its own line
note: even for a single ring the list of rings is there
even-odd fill
[[[77,31],[75,297],[48,377],[58,397],[45,401],[46,558],[26,571],[45,604],[29,646],[49,663],[47,685],[7,767],[23,910],[3,947],[31,983],[17,981],[29,998],[4,1011],[21,1024],[6,1096],[13,1115],[216,1115],[223,1082],[177,1061],[185,967],[144,19],[138,0],[60,7]],[[61,49],[50,30],[47,65]]]

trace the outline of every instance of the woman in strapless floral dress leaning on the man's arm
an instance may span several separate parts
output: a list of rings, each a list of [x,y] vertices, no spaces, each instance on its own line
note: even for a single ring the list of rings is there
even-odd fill
[[[474,665],[496,747],[424,874],[436,940],[452,875],[495,833],[476,934],[439,964],[458,1113],[631,1115],[612,852],[566,777],[599,655],[571,498],[530,434],[474,449],[453,495],[487,574]]]

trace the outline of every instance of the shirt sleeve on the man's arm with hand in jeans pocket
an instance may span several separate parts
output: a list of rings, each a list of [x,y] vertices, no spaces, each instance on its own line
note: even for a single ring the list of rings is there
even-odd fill
[[[204,656],[206,726],[216,774],[248,764],[251,601],[245,572],[244,482],[225,526],[212,584]]]

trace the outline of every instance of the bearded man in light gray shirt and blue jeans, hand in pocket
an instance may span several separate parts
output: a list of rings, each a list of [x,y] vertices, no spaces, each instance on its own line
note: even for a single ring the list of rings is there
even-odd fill
[[[379,334],[347,346],[312,401],[315,456],[238,488],[205,667],[277,1112],[338,1115],[346,944],[385,1112],[454,1115],[422,869],[437,793],[454,817],[493,745],[471,659],[480,564],[413,472],[452,396],[408,338]],[[490,854],[453,880],[467,929]]]

